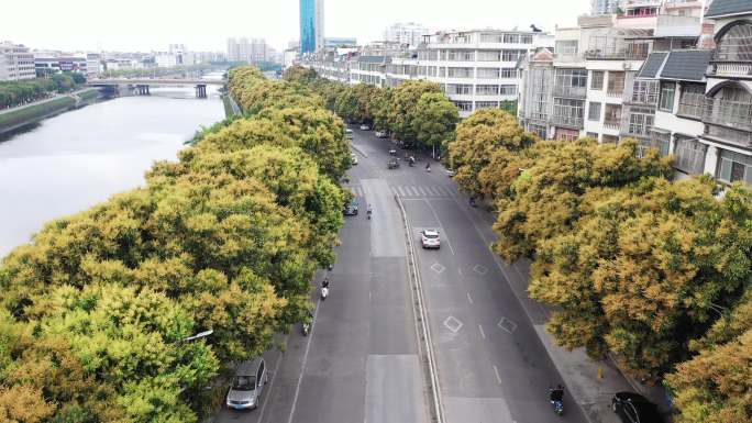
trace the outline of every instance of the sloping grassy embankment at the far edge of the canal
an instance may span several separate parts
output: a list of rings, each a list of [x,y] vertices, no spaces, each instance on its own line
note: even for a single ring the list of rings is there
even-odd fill
[[[96,88],[86,88],[65,96],[55,97],[0,112],[0,134],[23,127],[81,105],[101,97]]]

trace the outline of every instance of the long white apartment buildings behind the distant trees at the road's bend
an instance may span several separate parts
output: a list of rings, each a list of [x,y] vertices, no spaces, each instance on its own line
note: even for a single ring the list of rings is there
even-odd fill
[[[487,108],[513,112],[519,60],[539,46],[553,46],[553,36],[528,31],[452,31],[423,36],[416,49],[380,43],[362,48],[358,55],[331,55],[306,65],[327,78],[351,84],[396,87],[413,79],[436,82],[465,118]]]

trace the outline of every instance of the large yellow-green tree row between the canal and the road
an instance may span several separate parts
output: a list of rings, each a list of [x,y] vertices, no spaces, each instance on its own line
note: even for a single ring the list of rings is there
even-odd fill
[[[270,82],[231,71],[255,114],[1,261],[1,422],[196,422],[218,375],[307,316],[343,223],[335,180],[350,153],[316,96],[286,103],[290,85]],[[254,97],[262,88],[279,101]]]

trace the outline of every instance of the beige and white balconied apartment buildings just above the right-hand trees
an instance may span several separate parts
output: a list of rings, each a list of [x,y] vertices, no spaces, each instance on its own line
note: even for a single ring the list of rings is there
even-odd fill
[[[518,118],[528,131],[548,140],[650,143],[659,82],[638,71],[652,52],[695,47],[700,20],[659,13],[660,1],[622,7],[621,14],[582,16],[578,26],[557,29],[555,54],[523,58]]]

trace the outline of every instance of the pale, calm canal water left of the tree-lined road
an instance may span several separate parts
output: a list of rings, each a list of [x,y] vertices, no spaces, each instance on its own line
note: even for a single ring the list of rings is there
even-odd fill
[[[49,220],[144,183],[154,160],[175,159],[201,126],[224,119],[212,86],[152,88],[45,120],[0,138],[0,257]]]

